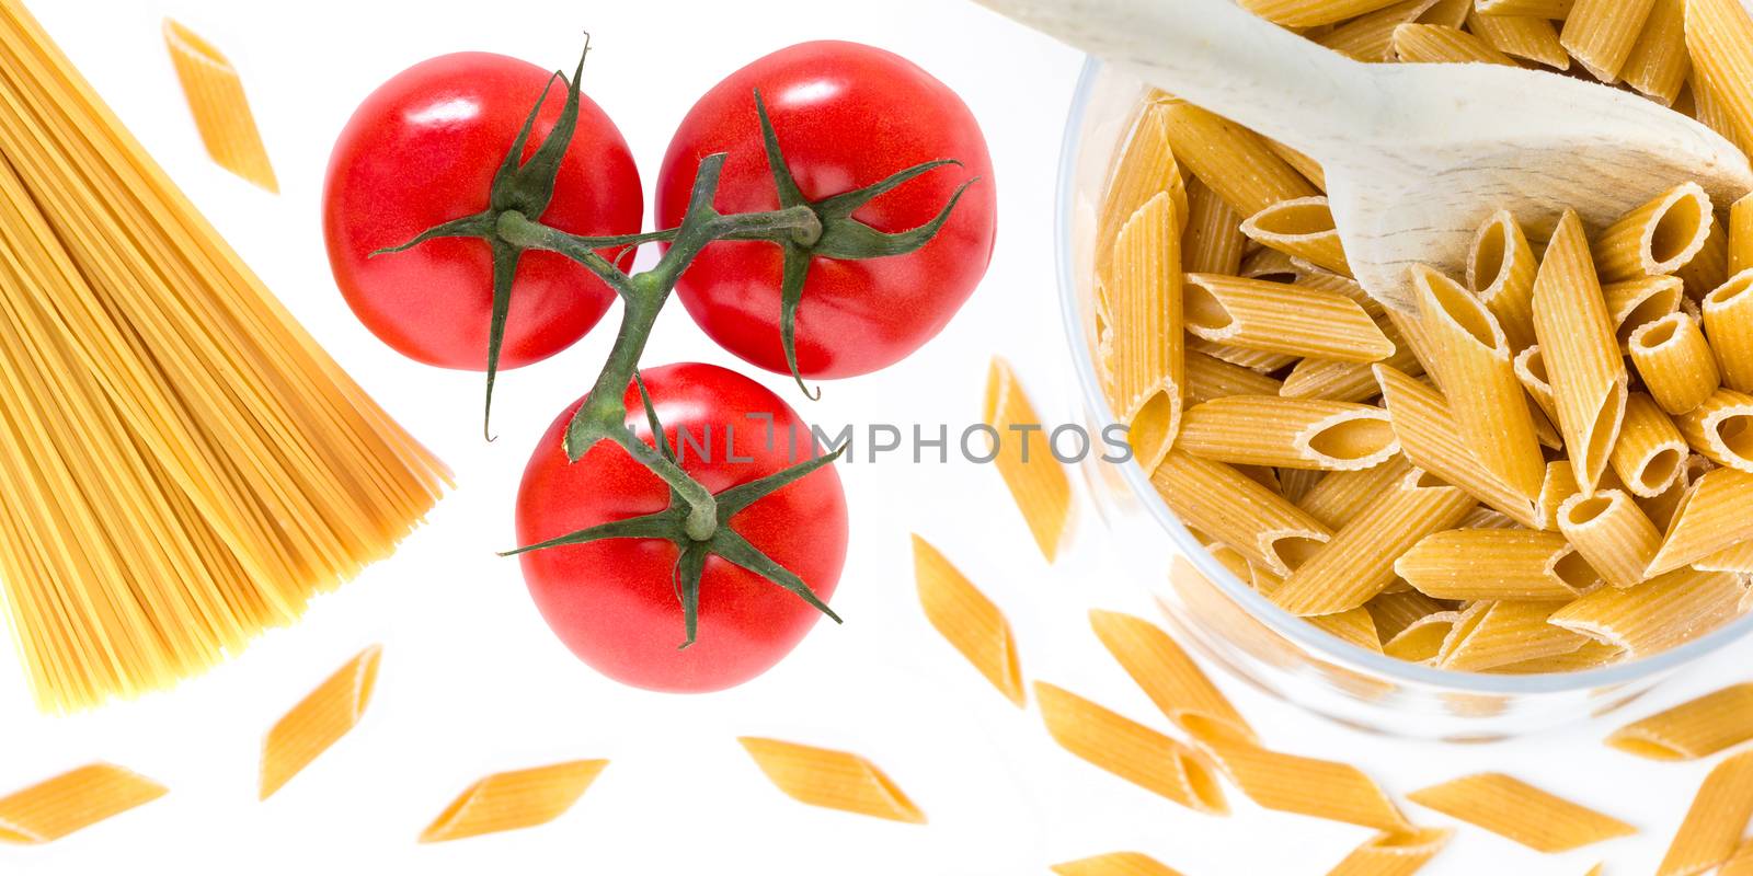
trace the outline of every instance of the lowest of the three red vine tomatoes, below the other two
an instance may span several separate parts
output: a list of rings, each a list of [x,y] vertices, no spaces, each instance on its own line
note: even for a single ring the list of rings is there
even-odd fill
[[[810,427],[798,412],[736,371],[687,363],[647,370],[643,378],[682,468],[715,494],[808,459]],[[628,426],[656,447],[636,389],[628,389],[626,403]],[[561,438],[577,410],[577,403],[568,406],[529,457],[517,492],[519,545],[670,505],[668,485],[614,443],[566,461]],[[749,413],[771,413],[771,440],[766,420]],[[678,433],[703,443],[708,426],[706,454],[678,443]],[[726,454],[726,434],[736,461]],[[833,596],[847,555],[847,501],[833,466],[756,501],[729,526],[824,601]],[[685,639],[678,554],[664,540],[608,540],[535,550],[521,561],[529,594],[561,641],[603,675],[650,690],[740,685],[785,657],[819,617],[777,583],[710,557],[699,587],[699,638],[677,650]]]

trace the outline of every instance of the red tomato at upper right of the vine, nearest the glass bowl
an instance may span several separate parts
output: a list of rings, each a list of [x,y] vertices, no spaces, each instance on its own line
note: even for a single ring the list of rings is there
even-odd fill
[[[713,152],[729,152],[719,212],[778,207],[756,116],[757,88],[798,187],[812,201],[924,161],[962,161],[854,214],[878,231],[929,223],[957,186],[980,177],[924,249],[862,261],[815,259],[810,266],[798,307],[798,370],[854,377],[894,364],[948,324],[992,259],[997,198],[980,126],[954,91],[896,54],[855,42],[780,49],[726,77],[682,119],[657,177],[663,228],[682,221],[694,172]],[[713,244],[694,259],[678,293],[720,347],[787,373],[777,245]]]

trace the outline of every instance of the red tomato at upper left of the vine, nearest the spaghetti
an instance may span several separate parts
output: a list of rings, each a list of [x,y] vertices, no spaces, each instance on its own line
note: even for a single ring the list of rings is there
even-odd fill
[[[484,240],[431,240],[368,256],[486,210],[493,175],[550,75],[501,54],[445,54],[384,82],[342,130],[323,193],[330,266],[359,321],[405,356],[445,368],[487,368],[493,259]],[[564,82],[554,82],[524,158],[554,126],[564,98]],[[586,96],[542,221],[577,235],[624,235],[636,233],[642,219],[633,154]],[[526,252],[500,368],[570,347],[614,298],[584,266],[552,252]]]

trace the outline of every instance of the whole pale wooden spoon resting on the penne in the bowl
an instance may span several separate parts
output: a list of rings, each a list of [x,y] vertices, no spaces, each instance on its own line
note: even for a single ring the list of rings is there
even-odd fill
[[[1360,63],[1227,0],[976,2],[1320,161],[1357,280],[1402,310],[1411,265],[1464,275],[1495,210],[1543,238],[1565,207],[1595,231],[1685,180],[1720,207],[1753,189],[1728,140],[1593,82]]]

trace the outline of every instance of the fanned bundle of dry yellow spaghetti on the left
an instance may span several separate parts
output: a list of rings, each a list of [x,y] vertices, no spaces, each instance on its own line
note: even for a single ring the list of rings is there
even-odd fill
[[[39,704],[295,620],[447,478],[0,0],[0,592]]]

